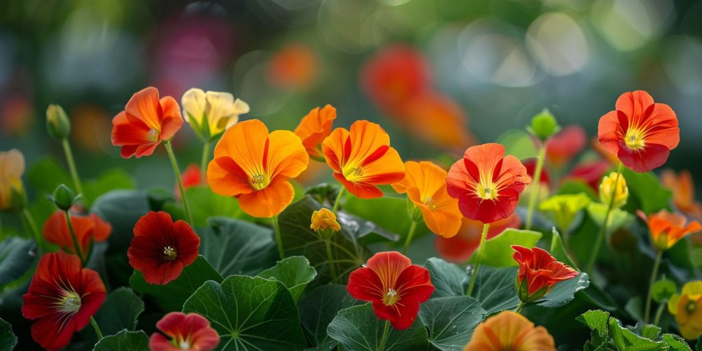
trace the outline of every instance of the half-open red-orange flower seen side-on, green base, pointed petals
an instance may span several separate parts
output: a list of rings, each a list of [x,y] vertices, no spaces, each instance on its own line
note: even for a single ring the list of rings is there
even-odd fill
[[[512,249],[515,251],[512,258],[519,263],[515,283],[517,295],[524,303],[542,298],[557,283],[578,275],[573,267],[558,262],[544,249],[528,249],[519,245],[512,245]]]

